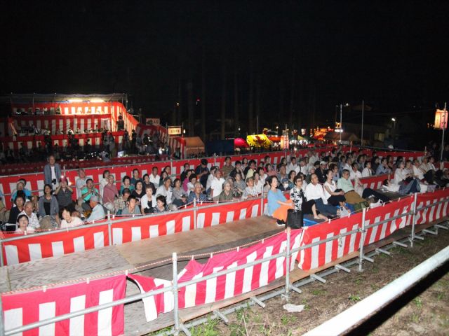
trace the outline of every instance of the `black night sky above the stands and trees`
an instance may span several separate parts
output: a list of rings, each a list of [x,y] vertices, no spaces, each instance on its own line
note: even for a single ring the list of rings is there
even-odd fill
[[[188,80],[201,98],[204,59],[208,130],[220,118],[224,64],[227,118],[236,75],[243,128],[251,71],[261,126],[288,121],[292,93],[293,123],[304,126],[313,111],[323,125],[336,104],[361,99],[380,116],[426,110],[449,99],[448,9],[448,1],[8,1],[0,93],[128,92],[135,109],[170,122],[178,101],[187,118]]]

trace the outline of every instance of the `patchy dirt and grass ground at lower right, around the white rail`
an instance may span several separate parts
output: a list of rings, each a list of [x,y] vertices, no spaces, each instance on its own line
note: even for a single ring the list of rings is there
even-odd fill
[[[302,335],[329,318],[363,300],[387,283],[408,272],[449,244],[449,230],[416,241],[414,248],[396,247],[391,256],[377,255],[364,262],[364,271],[338,272],[302,286],[302,294],[292,293],[290,303],[304,304],[300,313],[283,309],[281,297],[266,301],[267,307],[248,307],[227,316],[229,324],[210,321],[192,328],[192,335]],[[389,304],[379,314],[351,331],[351,335],[449,335],[449,265],[438,269],[417,286]]]

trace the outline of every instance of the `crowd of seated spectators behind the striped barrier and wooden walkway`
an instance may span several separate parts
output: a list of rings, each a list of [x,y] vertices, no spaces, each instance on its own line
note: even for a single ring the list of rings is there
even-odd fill
[[[25,188],[27,182],[19,179],[11,195],[11,209],[0,204],[2,229],[24,232],[22,215],[27,217],[25,231],[34,232],[92,223],[108,212],[117,216],[160,214],[194,202],[248,200],[262,193],[268,197],[268,215],[283,225],[288,209],[301,209],[315,219],[335,218],[373,202],[388,202],[395,197],[393,193],[424,192],[449,183],[449,172],[438,169],[432,157],[422,162],[401,157],[394,161],[391,156],[380,160],[375,152],[368,157],[363,151],[343,154],[333,150],[330,155],[310,151],[304,158],[283,158],[277,165],[268,155],[260,162],[243,158],[234,165],[227,157],[221,169],[209,163],[202,159],[195,169],[186,163],[177,176],[170,166],[161,172],[153,167],[152,173],[144,176],[133,169],[120,183],[105,170],[95,184],[81,168],[76,183],[69,183],[64,176],[57,179],[60,167],[50,157],[44,169],[43,195],[33,195]],[[390,174],[382,192],[363,188],[360,179],[377,174]],[[79,196],[76,201],[75,192]],[[290,192],[290,200],[285,192]]]

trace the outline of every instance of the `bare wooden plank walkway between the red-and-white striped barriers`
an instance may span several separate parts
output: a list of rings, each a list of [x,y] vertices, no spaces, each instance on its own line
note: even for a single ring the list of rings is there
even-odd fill
[[[262,216],[123,245],[0,267],[1,279],[5,279],[0,281],[0,290],[6,292],[131,269],[171,258],[173,252],[191,255],[220,251],[269,237],[282,230],[283,228],[279,228],[274,219]],[[206,261],[207,257],[204,259]],[[196,260],[201,261],[198,258]],[[178,270],[185,267],[187,261],[178,262]],[[143,267],[142,272],[136,274],[170,280],[173,277],[171,261],[151,269]],[[140,293],[138,287],[128,281],[126,296],[137,293]],[[149,325],[154,328],[156,324],[145,323],[145,311],[141,300],[126,304],[125,323],[126,335],[142,335],[140,330],[149,330]]]

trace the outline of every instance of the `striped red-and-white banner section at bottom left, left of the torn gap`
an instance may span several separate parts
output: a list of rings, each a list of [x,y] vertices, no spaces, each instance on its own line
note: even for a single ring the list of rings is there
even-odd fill
[[[5,330],[46,320],[125,297],[126,276],[112,276],[68,286],[1,295]],[[123,304],[22,332],[34,335],[123,335]],[[16,334],[17,335],[17,334]]]

